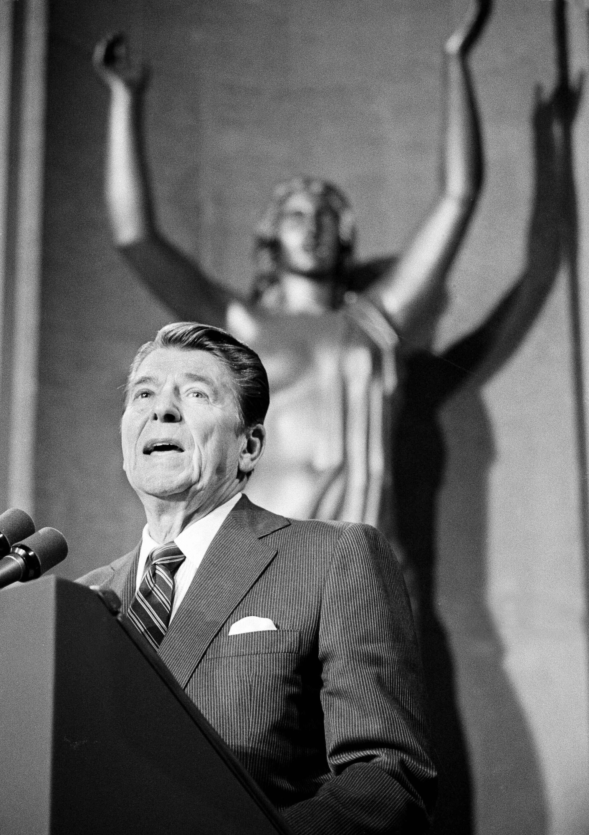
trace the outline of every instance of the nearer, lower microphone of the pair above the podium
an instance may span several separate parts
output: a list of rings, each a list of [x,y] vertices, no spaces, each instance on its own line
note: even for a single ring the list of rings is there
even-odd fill
[[[0,589],[20,580],[37,579],[68,555],[68,543],[54,528],[42,528],[18,542],[0,559]]]

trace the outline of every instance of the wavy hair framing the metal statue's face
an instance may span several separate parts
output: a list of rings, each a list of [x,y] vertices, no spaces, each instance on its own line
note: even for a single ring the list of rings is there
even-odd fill
[[[356,224],[348,199],[343,191],[327,180],[296,177],[277,185],[266,215],[257,227],[254,240],[256,258],[256,281],[252,291],[254,301],[260,298],[268,286],[272,286],[277,281],[278,228],[284,205],[292,195],[297,194],[309,195],[314,199],[318,198],[328,206],[328,209],[333,211],[333,215],[338,221],[339,251],[336,276],[343,283],[347,280],[346,274],[353,259],[353,249],[356,241]]]

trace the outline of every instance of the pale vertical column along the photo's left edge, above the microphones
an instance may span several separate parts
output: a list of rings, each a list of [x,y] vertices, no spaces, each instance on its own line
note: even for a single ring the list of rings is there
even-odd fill
[[[33,513],[47,4],[0,6],[0,505]]]

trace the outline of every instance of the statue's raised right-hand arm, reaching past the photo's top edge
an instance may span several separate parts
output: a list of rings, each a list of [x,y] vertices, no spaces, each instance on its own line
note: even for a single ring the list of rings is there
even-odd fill
[[[447,111],[439,200],[392,271],[368,291],[399,335],[409,339],[444,290],[483,180],[479,119],[466,61],[490,7],[490,0],[472,3],[464,25],[444,47]]]

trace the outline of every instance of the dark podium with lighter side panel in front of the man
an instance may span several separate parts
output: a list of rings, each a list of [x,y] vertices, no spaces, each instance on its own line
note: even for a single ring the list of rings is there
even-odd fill
[[[0,591],[3,835],[289,835],[139,635],[49,577]]]

